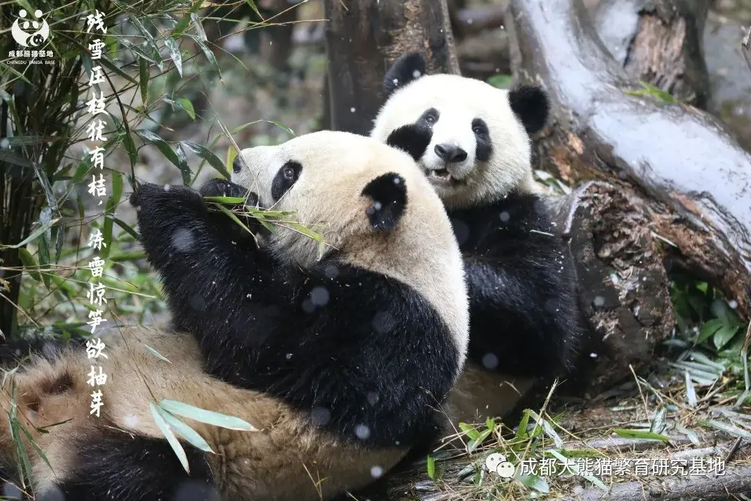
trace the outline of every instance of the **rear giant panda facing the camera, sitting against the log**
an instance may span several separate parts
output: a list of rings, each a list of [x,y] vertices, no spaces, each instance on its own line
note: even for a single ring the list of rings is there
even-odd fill
[[[565,374],[581,338],[573,267],[532,178],[547,95],[425,70],[420,53],[394,62],[371,137],[418,161],[463,252],[469,356],[451,416],[502,416],[535,381]]]

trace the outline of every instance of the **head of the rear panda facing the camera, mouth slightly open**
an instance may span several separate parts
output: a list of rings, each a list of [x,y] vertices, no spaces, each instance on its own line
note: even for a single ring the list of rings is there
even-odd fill
[[[533,190],[529,136],[544,126],[550,107],[539,87],[509,91],[459,75],[426,75],[423,56],[408,53],[387,72],[384,91],[371,137],[409,152],[448,207]]]

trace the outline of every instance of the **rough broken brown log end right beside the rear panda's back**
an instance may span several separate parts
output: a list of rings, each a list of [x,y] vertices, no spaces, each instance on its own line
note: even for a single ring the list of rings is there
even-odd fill
[[[671,336],[670,280],[647,207],[628,186],[584,183],[552,209],[575,263],[589,327],[576,373],[562,392],[594,395],[630,377],[631,367],[649,364],[656,346]],[[540,391],[544,397],[548,388]]]

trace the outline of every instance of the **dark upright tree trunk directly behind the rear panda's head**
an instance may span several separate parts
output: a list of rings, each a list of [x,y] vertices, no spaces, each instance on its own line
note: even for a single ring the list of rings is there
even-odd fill
[[[383,104],[383,75],[420,50],[431,73],[459,73],[446,0],[324,0],[331,125],[369,134]]]

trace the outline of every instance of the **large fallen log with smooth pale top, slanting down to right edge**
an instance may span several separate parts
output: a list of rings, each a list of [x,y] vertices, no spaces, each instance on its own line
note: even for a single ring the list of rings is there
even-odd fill
[[[581,0],[511,0],[507,19],[515,74],[552,101],[536,142],[541,168],[632,189],[671,266],[716,284],[748,318],[751,155],[707,113],[629,94],[638,83]]]

